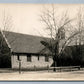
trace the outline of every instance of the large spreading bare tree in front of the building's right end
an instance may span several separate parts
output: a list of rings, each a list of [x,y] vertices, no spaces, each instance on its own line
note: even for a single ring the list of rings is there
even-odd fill
[[[45,49],[47,48],[52,52],[54,67],[57,66],[56,61],[63,53],[66,46],[71,43],[75,36],[82,32],[81,30],[78,31],[76,27],[72,25],[75,19],[69,18],[68,11],[62,13],[62,16],[56,13],[57,10],[54,5],[52,5],[51,10],[45,9],[40,16],[41,21],[45,24],[51,36],[50,42],[41,41],[41,43],[45,46]],[[54,71],[56,71],[55,68]]]

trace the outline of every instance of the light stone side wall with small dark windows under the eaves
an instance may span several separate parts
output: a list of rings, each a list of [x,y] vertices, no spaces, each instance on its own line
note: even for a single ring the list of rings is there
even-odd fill
[[[46,69],[48,66],[51,66],[53,63],[53,60],[51,57],[49,57],[49,61],[45,61],[45,56],[38,56],[32,55],[31,56],[31,62],[27,61],[26,55],[20,56],[21,60],[21,69]],[[17,59],[17,55],[11,56],[11,62],[12,62],[12,69],[18,69],[19,68],[19,60]]]

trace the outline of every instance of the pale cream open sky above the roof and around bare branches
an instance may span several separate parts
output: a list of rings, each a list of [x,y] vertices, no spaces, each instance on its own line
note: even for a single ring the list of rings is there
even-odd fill
[[[2,22],[3,11],[5,10],[5,14],[12,16],[12,31],[39,36],[40,32],[43,36],[47,36],[42,23],[39,21],[39,15],[44,6],[50,7],[49,4],[0,4],[0,23]],[[59,13],[68,9],[70,16],[73,17],[80,4],[56,4],[55,6]]]

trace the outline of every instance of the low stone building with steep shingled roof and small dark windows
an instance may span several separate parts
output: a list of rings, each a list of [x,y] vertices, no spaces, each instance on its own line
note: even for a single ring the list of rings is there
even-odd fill
[[[22,69],[46,69],[48,66],[51,66],[53,63],[52,56],[49,55],[49,50],[45,50],[44,46],[41,44],[41,41],[46,39],[49,41],[49,38],[43,38],[39,36],[32,36],[14,32],[1,32],[1,36],[4,38],[4,42],[7,50],[9,50],[8,56],[9,60],[4,61],[4,64],[7,67],[12,69],[19,68],[19,60],[21,60]],[[43,53],[40,53],[40,52]],[[2,63],[2,62],[1,62]],[[2,63],[1,65],[4,66]],[[5,66],[4,66],[5,68]]]

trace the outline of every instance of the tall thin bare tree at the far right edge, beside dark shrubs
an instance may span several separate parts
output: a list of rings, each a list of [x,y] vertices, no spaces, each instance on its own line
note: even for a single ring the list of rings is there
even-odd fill
[[[77,10],[77,15],[76,15],[76,24],[75,27],[76,29],[80,32],[80,31],[84,31],[84,7],[81,5],[78,10]],[[78,58],[81,60],[81,62],[83,61],[83,50],[84,48],[82,47],[84,45],[84,32],[79,33],[78,35],[75,36],[76,38],[76,49],[78,52]]]

